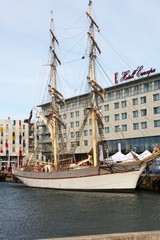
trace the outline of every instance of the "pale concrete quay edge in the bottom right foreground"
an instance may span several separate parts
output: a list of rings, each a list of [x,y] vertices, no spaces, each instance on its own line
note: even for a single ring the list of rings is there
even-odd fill
[[[53,238],[47,238],[47,240],[52,239]],[[160,240],[160,231],[54,238],[54,240]]]

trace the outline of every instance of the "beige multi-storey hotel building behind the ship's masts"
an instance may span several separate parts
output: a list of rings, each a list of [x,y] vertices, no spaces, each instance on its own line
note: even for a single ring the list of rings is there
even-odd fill
[[[160,74],[150,73],[145,72],[136,80],[133,79],[134,74],[128,78],[125,76],[120,84],[116,84],[116,79],[114,86],[105,89],[104,100],[98,99],[104,123],[104,128],[99,128],[99,141],[103,141],[105,152],[115,153],[118,143],[121,143],[124,153],[130,149],[137,153],[145,149],[152,151],[154,143],[160,145]],[[75,150],[77,157],[92,148],[89,106],[87,93],[67,99],[60,108],[60,117],[66,123],[66,129],[59,128],[59,137],[63,139],[59,145],[63,144],[63,151],[66,148],[70,152]],[[49,103],[40,107],[45,113]],[[50,158],[49,131],[41,124],[40,132],[42,155]]]

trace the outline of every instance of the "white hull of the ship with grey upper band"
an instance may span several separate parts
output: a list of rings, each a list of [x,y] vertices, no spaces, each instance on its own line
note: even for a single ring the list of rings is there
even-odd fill
[[[27,172],[13,170],[26,186],[82,191],[134,191],[146,165],[132,171],[109,172],[108,169],[86,168],[64,172]]]

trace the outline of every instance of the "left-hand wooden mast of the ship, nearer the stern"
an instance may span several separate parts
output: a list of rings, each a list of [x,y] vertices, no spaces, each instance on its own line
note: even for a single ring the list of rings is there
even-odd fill
[[[51,12],[52,14],[52,12]],[[51,84],[49,85],[49,93],[51,95],[51,125],[52,125],[52,149],[53,149],[53,158],[54,158],[54,167],[57,170],[57,162],[58,162],[58,149],[57,149],[57,129],[59,119],[59,109],[57,104],[57,99],[64,102],[63,96],[57,91],[57,84],[56,84],[56,67],[57,63],[61,64],[60,60],[58,59],[56,52],[55,52],[55,43],[58,44],[58,41],[54,35],[54,21],[53,17],[51,17]]]

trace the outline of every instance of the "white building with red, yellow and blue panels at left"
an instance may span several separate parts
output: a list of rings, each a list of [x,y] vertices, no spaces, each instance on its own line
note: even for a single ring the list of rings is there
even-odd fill
[[[28,123],[22,120],[0,120],[1,163],[19,162],[28,157]]]

